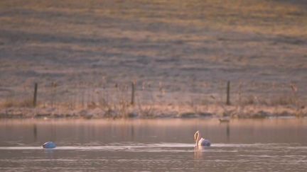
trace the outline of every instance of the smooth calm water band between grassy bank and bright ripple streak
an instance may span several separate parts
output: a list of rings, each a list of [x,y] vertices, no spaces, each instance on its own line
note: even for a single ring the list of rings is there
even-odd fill
[[[53,141],[59,146],[117,142],[193,143],[196,130],[212,144],[306,143],[306,119],[232,120],[0,120],[0,146]]]

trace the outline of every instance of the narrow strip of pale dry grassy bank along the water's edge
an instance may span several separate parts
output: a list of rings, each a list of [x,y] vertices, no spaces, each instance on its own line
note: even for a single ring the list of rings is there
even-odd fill
[[[266,105],[147,105],[124,108],[2,108],[0,119],[163,119],[307,117],[306,108]]]

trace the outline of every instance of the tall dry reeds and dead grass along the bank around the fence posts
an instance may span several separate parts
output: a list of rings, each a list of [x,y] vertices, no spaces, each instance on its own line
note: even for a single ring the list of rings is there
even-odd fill
[[[161,83],[156,91],[144,87],[136,87],[136,102],[131,104],[131,88],[129,84],[116,84],[114,88],[87,88],[82,86],[76,95],[63,93],[65,86],[58,85],[58,92],[51,84],[50,95],[39,96],[38,105],[33,107],[31,98],[25,96],[18,101],[14,96],[0,103],[1,114],[26,114],[26,117],[85,117],[85,118],[126,118],[126,117],[274,117],[307,115],[306,101],[298,96],[296,84],[288,84],[288,92],[269,97],[252,96],[242,88],[242,83],[232,86],[231,105],[225,105],[225,93],[199,95],[187,98],[180,95],[176,99]],[[136,84],[137,85],[137,84]],[[225,84],[226,87],[226,84]],[[236,88],[237,87],[237,88]],[[41,88],[48,92],[48,88]],[[148,90],[146,90],[148,89]],[[219,88],[220,89],[220,88]],[[30,90],[30,89],[27,89]],[[65,92],[65,91],[64,91]],[[41,93],[42,94],[42,93]],[[144,96],[143,94],[147,94]],[[148,98],[151,94],[151,98]],[[27,94],[31,96],[31,93]],[[282,96],[280,96],[282,95]],[[171,98],[171,99],[170,99]],[[149,101],[150,100],[150,101]],[[176,101],[174,101],[176,100]],[[21,109],[20,109],[21,108]],[[9,110],[9,111],[8,111]],[[33,113],[33,114],[31,114]],[[45,115],[42,115],[45,114]]]

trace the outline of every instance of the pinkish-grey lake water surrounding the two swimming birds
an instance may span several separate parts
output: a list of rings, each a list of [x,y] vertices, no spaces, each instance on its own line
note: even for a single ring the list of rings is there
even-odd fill
[[[307,119],[0,120],[0,171],[307,171],[306,133]]]

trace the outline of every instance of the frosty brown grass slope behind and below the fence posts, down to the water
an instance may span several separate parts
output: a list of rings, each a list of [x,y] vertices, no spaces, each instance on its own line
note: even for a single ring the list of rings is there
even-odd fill
[[[1,114],[305,114],[306,91],[303,0],[0,1]]]

